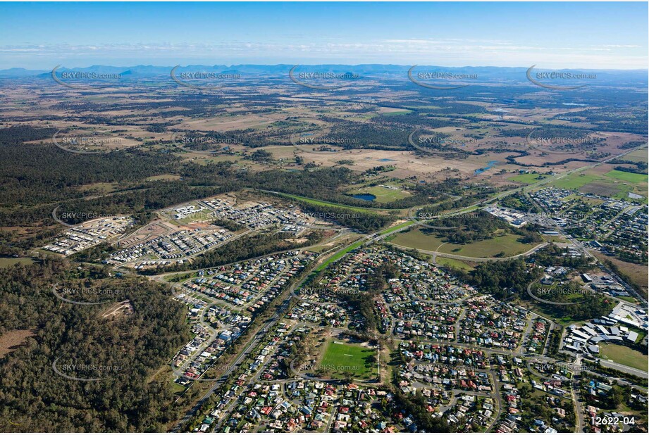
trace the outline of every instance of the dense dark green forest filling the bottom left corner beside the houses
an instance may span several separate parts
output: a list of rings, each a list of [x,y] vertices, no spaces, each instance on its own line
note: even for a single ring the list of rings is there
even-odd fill
[[[32,432],[165,431],[177,417],[171,382],[153,377],[190,339],[185,307],[170,289],[111,279],[101,285],[112,294],[74,296],[101,305],[67,303],[51,290],[53,282],[92,288],[107,278],[64,260],[0,268],[0,334],[35,331],[0,359],[0,431],[16,431],[10,421]],[[132,313],[104,317],[121,301]],[[70,377],[101,380],[68,379],[55,362]]]

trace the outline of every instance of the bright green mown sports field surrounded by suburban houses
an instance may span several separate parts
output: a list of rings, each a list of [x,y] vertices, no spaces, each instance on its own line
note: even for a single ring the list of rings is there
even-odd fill
[[[376,350],[359,344],[330,341],[324,351],[320,366],[332,376],[342,376],[351,372],[356,379],[372,379],[376,377]]]

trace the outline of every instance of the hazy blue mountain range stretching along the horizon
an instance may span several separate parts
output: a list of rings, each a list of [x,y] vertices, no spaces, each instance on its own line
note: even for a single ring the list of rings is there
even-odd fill
[[[286,76],[291,68],[295,65],[187,65],[180,66],[176,73],[227,73],[240,74],[242,76],[264,75]],[[530,65],[531,66],[531,65]],[[534,68],[534,74],[539,72],[557,71],[548,68],[540,68],[537,65]],[[135,65],[135,66],[110,66],[110,65],[92,65],[87,68],[66,68],[61,66],[57,69],[57,75],[65,72],[79,73],[97,73],[97,74],[119,74],[121,80],[141,80],[146,78],[166,77],[168,78],[173,65],[171,66],[154,66],[154,65]],[[299,65],[296,73],[315,72],[315,73],[353,73],[366,77],[407,77],[412,65],[382,65],[382,64],[363,64],[363,65]],[[417,73],[443,72],[451,74],[476,75],[477,82],[497,83],[506,80],[507,82],[521,81],[526,82],[526,72],[529,67],[491,67],[491,66],[466,66],[466,67],[445,67],[439,65],[418,65],[413,71]],[[597,75],[596,84],[618,84],[622,86],[646,86],[648,83],[648,70],[586,70],[570,69],[561,70],[571,73],[584,73]],[[27,78],[44,78],[51,79],[51,70],[27,70],[25,68],[9,68],[0,70],[2,79],[27,79]],[[595,84],[595,83],[593,83]]]

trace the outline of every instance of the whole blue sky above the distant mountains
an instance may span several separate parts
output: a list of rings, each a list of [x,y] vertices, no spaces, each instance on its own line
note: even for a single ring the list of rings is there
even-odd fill
[[[647,2],[0,3],[0,69],[90,65],[648,68]]]

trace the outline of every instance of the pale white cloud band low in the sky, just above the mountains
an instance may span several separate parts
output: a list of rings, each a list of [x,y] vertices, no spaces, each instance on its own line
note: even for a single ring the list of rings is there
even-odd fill
[[[22,65],[25,59],[39,65]],[[48,59],[49,63],[43,63]],[[62,61],[111,65],[135,63],[401,63],[447,66],[527,66],[544,68],[647,68],[646,51],[636,45],[534,46],[502,40],[385,39],[373,42],[220,42],[212,44],[51,44],[0,46],[3,68],[51,68]],[[20,63],[20,64],[19,64]],[[51,64],[51,65],[50,65]],[[82,65],[75,65],[82,66]]]

